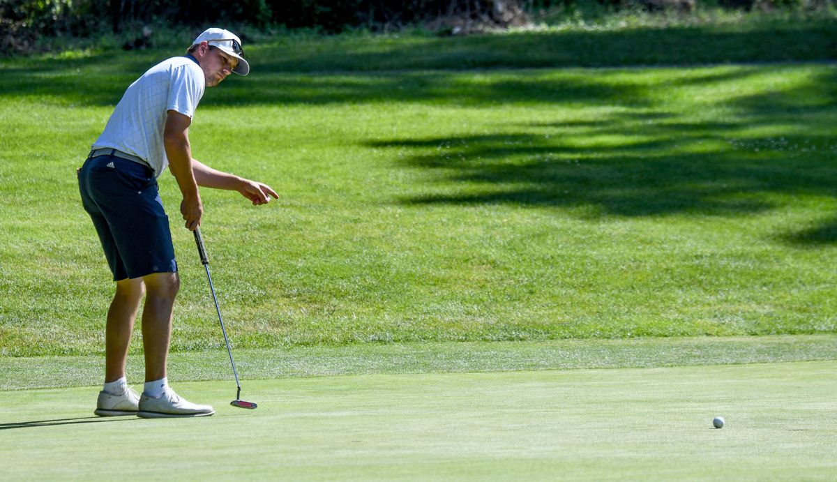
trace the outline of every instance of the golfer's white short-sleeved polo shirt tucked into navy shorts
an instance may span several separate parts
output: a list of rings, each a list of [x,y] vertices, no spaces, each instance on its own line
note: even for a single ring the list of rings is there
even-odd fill
[[[162,61],[128,87],[92,148],[110,147],[137,156],[160,177],[168,167],[162,141],[168,111],[191,119],[205,89],[203,70],[193,59]]]

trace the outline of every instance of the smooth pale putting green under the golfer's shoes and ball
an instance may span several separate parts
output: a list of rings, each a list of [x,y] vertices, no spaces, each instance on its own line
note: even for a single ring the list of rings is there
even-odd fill
[[[182,382],[211,418],[2,392],[8,479],[833,479],[837,362]],[[711,428],[716,415],[727,427]]]

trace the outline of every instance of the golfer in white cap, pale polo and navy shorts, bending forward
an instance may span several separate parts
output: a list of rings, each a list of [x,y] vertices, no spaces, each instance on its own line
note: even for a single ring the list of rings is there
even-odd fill
[[[81,200],[116,281],[105,328],[105,387],[96,415],[167,418],[215,413],[208,405],[177,396],[167,382],[172,306],[180,279],[157,178],[170,167],[183,196],[180,213],[192,231],[203,217],[198,186],[238,191],[254,205],[268,203],[270,196],[278,198],[261,182],[196,161],[189,146],[189,125],[204,89],[231,72],[247,75],[249,69],[241,40],[229,30],[209,28],[195,38],[185,56],[151,67],[128,87],[79,170]],[[229,145],[233,143],[229,138]],[[143,295],[146,384],[139,396],[127,386],[125,366]]]

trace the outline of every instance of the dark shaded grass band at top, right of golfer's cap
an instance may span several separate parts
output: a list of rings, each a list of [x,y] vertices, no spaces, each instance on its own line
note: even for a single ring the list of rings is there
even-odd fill
[[[837,59],[837,22],[519,32],[452,38],[315,38],[263,49],[268,72],[622,67]]]

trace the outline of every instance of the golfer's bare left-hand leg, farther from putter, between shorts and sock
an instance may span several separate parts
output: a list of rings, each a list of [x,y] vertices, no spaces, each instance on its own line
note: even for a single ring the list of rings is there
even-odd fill
[[[105,326],[105,382],[125,377],[128,346],[131,344],[136,311],[144,293],[142,279],[120,279],[116,282],[116,295],[110,302]]]

